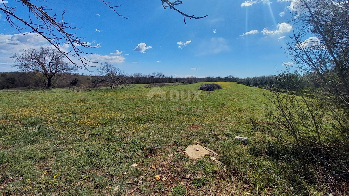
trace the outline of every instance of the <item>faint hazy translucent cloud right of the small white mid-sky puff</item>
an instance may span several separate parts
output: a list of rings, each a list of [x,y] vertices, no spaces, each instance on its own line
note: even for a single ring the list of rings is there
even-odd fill
[[[229,51],[228,41],[222,37],[205,40],[199,45],[199,55],[218,54],[223,51]]]

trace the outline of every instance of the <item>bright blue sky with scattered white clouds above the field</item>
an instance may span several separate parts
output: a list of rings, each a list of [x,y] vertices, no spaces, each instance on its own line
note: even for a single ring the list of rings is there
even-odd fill
[[[187,26],[182,15],[164,10],[160,0],[112,2],[121,4],[117,10],[128,19],[98,0],[49,1],[44,5],[58,15],[66,9],[64,20],[81,27],[77,35],[92,45],[101,44],[86,50],[93,53],[89,58],[112,62],[130,74],[262,76],[284,69],[283,62],[291,61],[280,48],[287,44],[294,25],[289,22],[294,17],[288,8],[290,0],[183,0],[177,8],[184,13],[209,15],[201,20],[187,18]],[[21,7],[16,12],[23,17],[27,13]],[[47,43],[35,35],[18,34],[1,14],[0,71],[13,71],[12,53]],[[92,72],[79,72],[98,74],[96,67],[89,70]]]

